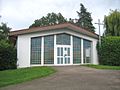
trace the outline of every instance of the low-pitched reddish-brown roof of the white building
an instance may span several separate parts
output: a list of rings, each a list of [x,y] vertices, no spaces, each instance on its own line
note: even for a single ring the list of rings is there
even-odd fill
[[[40,31],[57,30],[57,29],[62,29],[62,28],[68,28],[75,32],[79,32],[79,33],[87,35],[87,36],[98,38],[97,34],[90,32],[88,30],[85,30],[83,28],[80,28],[71,23],[63,23],[63,24],[57,24],[57,25],[52,25],[52,26],[32,27],[32,28],[28,28],[28,29],[15,30],[15,31],[11,31],[9,33],[9,36],[18,36],[18,35],[22,35],[22,34],[28,34],[28,33],[33,33],[33,32],[40,32]]]

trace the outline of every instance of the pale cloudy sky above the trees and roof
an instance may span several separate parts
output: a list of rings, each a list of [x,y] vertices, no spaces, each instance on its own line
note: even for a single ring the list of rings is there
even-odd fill
[[[98,34],[100,19],[109,15],[110,9],[120,10],[120,0],[0,0],[0,22],[7,23],[13,30],[28,28],[36,19],[46,16],[47,13],[55,12],[69,18],[78,18],[76,11],[80,10],[82,3],[91,13],[95,31]],[[101,33],[104,32],[101,26]]]

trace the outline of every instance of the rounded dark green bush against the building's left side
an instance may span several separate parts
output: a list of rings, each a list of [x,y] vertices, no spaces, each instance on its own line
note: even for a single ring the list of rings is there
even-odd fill
[[[15,69],[16,62],[15,47],[6,40],[0,40],[0,70]]]

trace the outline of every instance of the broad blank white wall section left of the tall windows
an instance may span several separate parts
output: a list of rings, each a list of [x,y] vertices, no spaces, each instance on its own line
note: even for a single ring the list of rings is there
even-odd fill
[[[30,37],[20,35],[17,43],[18,67],[30,67]]]

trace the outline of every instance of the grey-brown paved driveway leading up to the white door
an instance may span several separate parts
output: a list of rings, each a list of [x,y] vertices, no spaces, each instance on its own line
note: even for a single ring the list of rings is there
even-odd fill
[[[54,67],[54,75],[2,90],[120,90],[120,71],[97,70],[83,66]]]

